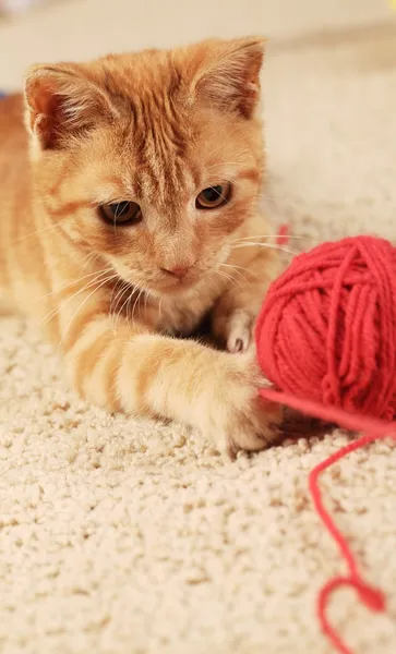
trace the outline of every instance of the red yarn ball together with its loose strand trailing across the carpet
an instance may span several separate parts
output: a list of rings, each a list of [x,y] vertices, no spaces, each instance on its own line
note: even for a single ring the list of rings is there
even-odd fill
[[[284,229],[278,238],[284,242],[286,234]],[[391,243],[371,237],[344,239],[297,256],[272,284],[256,325],[259,362],[275,385],[260,390],[264,399],[367,433],[309,476],[315,510],[348,567],[348,574],[321,589],[316,607],[322,631],[341,654],[352,651],[327,618],[332,593],[353,588],[373,611],[384,611],[386,602],[359,572],[324,507],[319,479],[350,452],[380,438],[396,438],[396,423],[389,422],[396,413],[395,296],[396,250]]]

